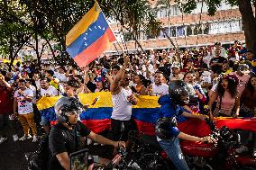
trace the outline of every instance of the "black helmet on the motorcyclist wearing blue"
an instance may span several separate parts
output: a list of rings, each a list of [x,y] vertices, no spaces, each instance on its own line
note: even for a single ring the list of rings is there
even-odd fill
[[[169,95],[178,105],[185,105],[189,102],[188,86],[182,80],[174,80],[169,84]]]

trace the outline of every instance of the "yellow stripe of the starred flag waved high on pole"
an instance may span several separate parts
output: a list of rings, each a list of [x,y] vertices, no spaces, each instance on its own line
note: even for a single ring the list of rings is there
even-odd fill
[[[88,27],[96,22],[101,9],[97,3],[83,16],[81,20],[66,35],[66,46],[68,47],[82,33],[87,31]]]

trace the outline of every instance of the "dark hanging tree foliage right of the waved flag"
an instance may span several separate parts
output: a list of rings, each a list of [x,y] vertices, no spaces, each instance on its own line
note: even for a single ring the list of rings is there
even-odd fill
[[[151,37],[160,32],[161,22],[155,20],[155,12],[148,0],[106,0],[101,4],[107,16],[120,22],[122,30],[133,35],[140,49],[142,49],[139,42],[141,33],[147,33]]]

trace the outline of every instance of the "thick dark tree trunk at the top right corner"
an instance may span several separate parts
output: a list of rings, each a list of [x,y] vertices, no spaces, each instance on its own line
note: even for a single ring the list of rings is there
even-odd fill
[[[252,11],[251,0],[239,0],[238,5],[242,15],[245,42],[248,49],[256,54],[256,20]]]

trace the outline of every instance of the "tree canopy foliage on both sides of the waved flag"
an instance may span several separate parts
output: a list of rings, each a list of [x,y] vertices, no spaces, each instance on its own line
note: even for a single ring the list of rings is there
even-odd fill
[[[93,4],[92,0],[1,1],[0,52],[2,56],[11,54],[9,56],[14,58],[12,56],[15,56],[17,50],[32,37],[33,40],[58,42],[61,54],[59,64],[66,65],[69,55],[65,52],[65,36]],[[160,22],[155,20],[155,13],[148,0],[99,0],[98,4],[106,17],[120,22],[123,31],[129,31],[133,38],[138,38],[142,30],[151,35],[159,33]],[[51,49],[54,50],[52,47]]]

